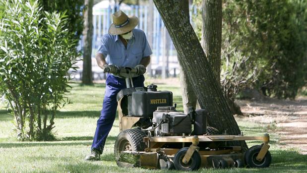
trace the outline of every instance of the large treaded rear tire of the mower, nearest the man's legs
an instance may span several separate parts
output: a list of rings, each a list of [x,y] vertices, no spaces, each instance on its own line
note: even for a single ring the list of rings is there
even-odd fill
[[[143,138],[146,132],[140,129],[126,129],[123,130],[116,138],[114,144],[114,156],[116,161],[119,159],[122,151],[144,151],[146,144]],[[123,162],[117,162],[119,167],[132,167],[133,165]]]

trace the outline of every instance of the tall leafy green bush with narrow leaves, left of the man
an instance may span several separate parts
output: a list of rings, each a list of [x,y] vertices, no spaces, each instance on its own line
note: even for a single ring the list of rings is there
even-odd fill
[[[0,0],[0,6],[0,91],[19,138],[49,140],[56,111],[68,103],[63,95],[77,42],[69,39],[67,16],[44,12],[37,0]]]

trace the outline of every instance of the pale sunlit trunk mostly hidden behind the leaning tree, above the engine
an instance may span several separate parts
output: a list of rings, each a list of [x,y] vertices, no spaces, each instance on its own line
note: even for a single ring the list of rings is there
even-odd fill
[[[180,5],[182,6],[185,17],[189,20],[189,8],[188,8],[188,0],[180,0]],[[178,55],[180,56],[180,55]],[[196,96],[194,94],[191,83],[188,81],[185,71],[181,65],[181,59],[178,58],[179,61],[179,70],[180,70],[180,85],[181,85],[181,93],[183,97],[183,106],[184,106],[184,114],[187,114],[188,107],[196,108]]]

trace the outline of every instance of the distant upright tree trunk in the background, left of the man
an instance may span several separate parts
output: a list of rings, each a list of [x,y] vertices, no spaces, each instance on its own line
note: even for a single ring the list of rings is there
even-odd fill
[[[93,0],[85,0],[83,28],[83,70],[82,83],[90,85],[92,79],[92,36],[93,36]]]

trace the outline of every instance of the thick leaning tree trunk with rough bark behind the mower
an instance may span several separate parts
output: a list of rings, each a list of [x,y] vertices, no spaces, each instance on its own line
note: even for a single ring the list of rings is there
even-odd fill
[[[221,131],[227,130],[228,134],[240,134],[220,84],[214,78],[212,68],[181,5],[177,0],[154,0],[154,3],[170,33],[185,74],[193,84],[200,107],[209,112],[209,124]],[[247,148],[245,141],[235,141],[232,144]]]

